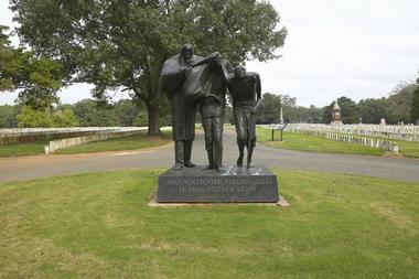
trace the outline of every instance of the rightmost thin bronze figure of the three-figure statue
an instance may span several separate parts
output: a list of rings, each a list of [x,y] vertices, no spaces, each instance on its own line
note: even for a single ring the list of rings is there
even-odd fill
[[[237,132],[239,157],[237,167],[243,167],[245,147],[247,148],[247,168],[250,167],[251,155],[256,146],[255,111],[261,103],[260,77],[257,73],[246,73],[243,65],[234,69],[228,78],[228,90],[233,99],[233,116]]]

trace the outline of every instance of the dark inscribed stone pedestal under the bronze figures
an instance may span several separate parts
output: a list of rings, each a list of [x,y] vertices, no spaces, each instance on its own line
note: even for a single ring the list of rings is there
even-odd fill
[[[158,203],[277,203],[277,175],[265,167],[168,170],[159,176]]]

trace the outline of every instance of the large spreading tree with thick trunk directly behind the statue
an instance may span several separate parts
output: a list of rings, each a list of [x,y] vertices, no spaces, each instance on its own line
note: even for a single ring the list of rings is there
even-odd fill
[[[219,51],[233,63],[276,58],[287,30],[269,2],[256,0],[11,0],[18,32],[39,54],[61,61],[65,83],[128,90],[148,110],[149,133],[159,133],[162,63],[186,42],[196,52]]]

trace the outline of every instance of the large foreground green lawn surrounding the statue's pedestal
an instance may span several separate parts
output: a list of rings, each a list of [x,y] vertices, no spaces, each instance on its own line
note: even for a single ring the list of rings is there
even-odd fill
[[[0,278],[419,278],[419,184],[279,171],[290,207],[149,207],[163,170],[0,185]]]

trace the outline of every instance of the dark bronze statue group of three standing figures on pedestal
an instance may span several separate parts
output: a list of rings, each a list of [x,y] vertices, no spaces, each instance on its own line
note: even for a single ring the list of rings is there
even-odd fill
[[[261,103],[258,74],[247,73],[243,65],[233,67],[217,52],[206,57],[195,55],[193,46],[185,44],[180,54],[164,62],[160,78],[161,89],[166,94],[171,106],[175,170],[195,167],[191,161],[191,152],[198,107],[208,155],[205,170],[223,171],[223,127],[227,89],[233,100],[237,132],[237,167],[243,167],[245,147],[246,167],[250,167],[256,144],[254,114]]]

